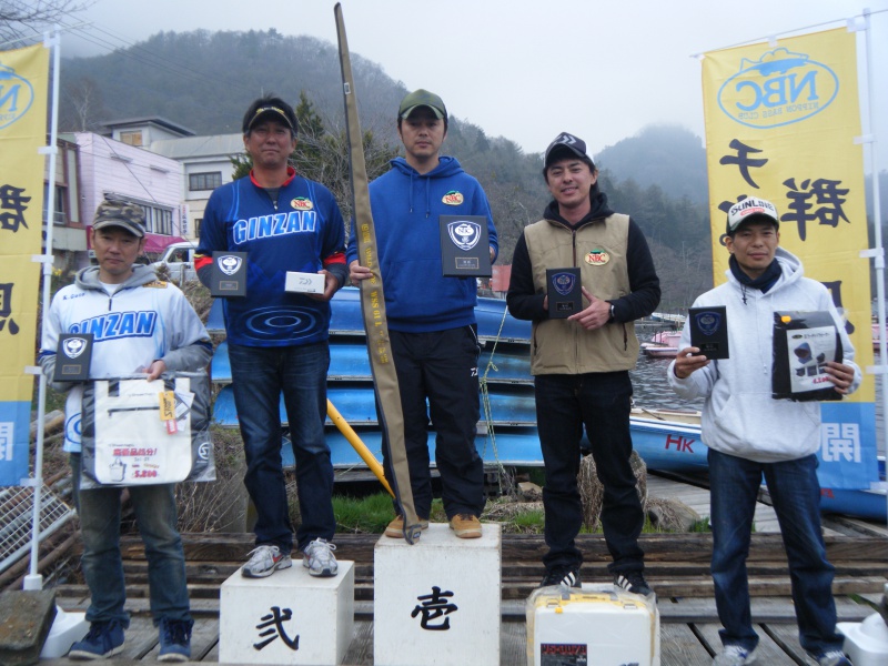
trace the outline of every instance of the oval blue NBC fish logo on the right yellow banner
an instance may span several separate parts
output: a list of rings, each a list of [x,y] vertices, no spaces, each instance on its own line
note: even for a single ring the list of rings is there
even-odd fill
[[[760,130],[800,122],[829,107],[839,79],[805,53],[779,48],[758,60],[740,60],[718,90],[718,107],[731,120]]]

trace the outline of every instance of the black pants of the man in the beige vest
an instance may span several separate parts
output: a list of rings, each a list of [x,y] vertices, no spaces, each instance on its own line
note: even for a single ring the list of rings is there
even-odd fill
[[[583,554],[574,539],[583,524],[576,476],[583,426],[604,485],[602,526],[613,573],[642,571],[644,552],[638,535],[644,511],[629,464],[632,382],[628,372],[583,375],[537,375],[536,421],[546,485],[543,488],[547,568],[579,566]]]

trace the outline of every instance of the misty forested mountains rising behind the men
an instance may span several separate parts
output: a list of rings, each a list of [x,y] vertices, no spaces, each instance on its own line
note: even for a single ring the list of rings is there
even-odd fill
[[[394,117],[407,89],[357,54],[352,69],[362,127],[372,132],[377,154],[391,152],[400,147]],[[434,82],[427,85],[434,89]],[[161,32],[128,50],[63,60],[61,87],[60,129],[67,131],[100,131],[103,121],[160,115],[198,134],[239,132],[244,109],[258,95],[273,92],[295,107],[304,93],[330,145],[343,145],[336,49],[311,37],[273,29]],[[630,214],[647,234],[665,309],[687,307],[712,284],[700,145],[688,130],[652,127],[595,155],[612,208]],[[458,117],[451,118],[444,151],[481,181],[501,236],[500,261],[511,262],[522,229],[539,219],[549,200],[542,155],[526,154],[514,141],[488,137]],[[344,178],[340,165],[322,172]],[[334,192],[349,190],[325,184]]]

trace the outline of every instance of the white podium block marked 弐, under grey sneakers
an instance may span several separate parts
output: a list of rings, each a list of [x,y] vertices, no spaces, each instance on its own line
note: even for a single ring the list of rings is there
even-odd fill
[[[220,664],[314,664],[345,657],[354,632],[354,563],[340,562],[333,578],[293,566],[266,578],[241,569],[222,584]]]

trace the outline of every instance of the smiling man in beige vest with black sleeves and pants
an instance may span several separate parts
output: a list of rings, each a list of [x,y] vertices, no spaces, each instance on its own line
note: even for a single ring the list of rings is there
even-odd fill
[[[644,512],[629,465],[629,370],[638,357],[633,321],[659,303],[659,279],[647,241],[627,215],[614,213],[598,189],[598,170],[582,139],[563,132],[546,149],[543,176],[554,200],[544,219],[518,238],[508,310],[533,322],[531,372],[546,467],[543,504],[546,575],[541,586],[581,586],[583,523],[576,476],[583,427],[604,484],[602,525],[614,583],[653,594],[644,578],[638,535]],[[552,316],[546,269],[579,269],[581,311]]]

